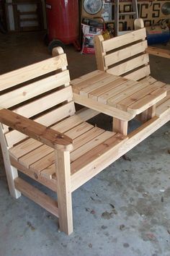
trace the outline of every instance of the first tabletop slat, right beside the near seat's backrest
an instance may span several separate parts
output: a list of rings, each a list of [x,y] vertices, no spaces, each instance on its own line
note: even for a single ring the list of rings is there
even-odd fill
[[[104,80],[104,78],[109,77],[110,74],[107,74],[106,72],[99,73],[98,75],[91,77],[89,79],[83,80],[82,82],[79,82],[79,84],[73,85],[73,93],[78,93],[86,88],[89,85],[94,84],[95,82],[99,82],[100,80]]]

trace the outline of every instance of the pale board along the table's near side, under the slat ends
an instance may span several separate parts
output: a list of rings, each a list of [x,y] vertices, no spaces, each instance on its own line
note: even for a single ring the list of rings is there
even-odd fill
[[[122,111],[118,108],[108,106],[108,105],[100,103],[98,101],[91,100],[91,98],[85,98],[84,96],[76,94],[76,93],[73,93],[73,100],[75,103],[78,103],[82,106],[86,106],[87,108],[94,109],[103,114],[107,114],[108,116],[115,117],[122,121],[129,121],[129,120],[133,119],[133,117],[135,116],[135,114],[130,114],[130,113],[128,113],[126,111]]]

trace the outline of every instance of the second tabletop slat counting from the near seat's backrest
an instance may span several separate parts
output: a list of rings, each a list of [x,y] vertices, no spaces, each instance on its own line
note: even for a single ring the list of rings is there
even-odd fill
[[[114,74],[112,74],[112,76],[106,77],[103,80],[99,81],[99,82],[94,82],[93,84],[89,84],[88,86],[86,86],[86,88],[83,88],[80,90],[79,94],[80,95],[84,95],[84,97],[89,97],[89,93],[91,93],[94,90],[100,90],[100,88],[105,88],[105,86],[107,85],[111,87],[111,85],[114,86],[115,81],[118,82],[121,80],[121,78],[118,78],[117,76],[115,76]]]

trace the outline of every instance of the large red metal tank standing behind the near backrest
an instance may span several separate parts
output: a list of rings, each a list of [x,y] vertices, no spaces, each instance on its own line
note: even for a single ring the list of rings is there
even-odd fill
[[[79,1],[46,0],[48,48],[73,43],[79,48]]]

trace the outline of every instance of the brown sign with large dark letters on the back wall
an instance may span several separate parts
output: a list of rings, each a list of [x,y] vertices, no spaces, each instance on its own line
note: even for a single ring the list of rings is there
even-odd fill
[[[92,0],[91,0],[92,1]],[[130,0],[120,0],[120,12],[132,12]],[[102,9],[94,15],[83,10],[83,17],[103,17],[107,25],[114,27],[114,0],[103,0]],[[169,0],[138,0],[138,14],[146,27],[170,20]],[[120,16],[120,30],[133,30],[133,16]]]

